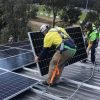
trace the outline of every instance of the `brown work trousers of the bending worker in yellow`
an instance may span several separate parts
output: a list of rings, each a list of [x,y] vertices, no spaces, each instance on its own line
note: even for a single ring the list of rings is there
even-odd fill
[[[65,50],[62,53],[60,53],[59,50],[57,50],[54,54],[54,56],[52,57],[52,60],[50,61],[50,65],[49,65],[49,76],[47,79],[47,82],[50,83],[53,71],[58,63],[58,70],[59,70],[59,75],[55,75],[53,83],[57,83],[62,71],[64,69],[64,65],[66,63],[67,60],[69,60],[70,58],[72,58],[76,53],[76,50]]]

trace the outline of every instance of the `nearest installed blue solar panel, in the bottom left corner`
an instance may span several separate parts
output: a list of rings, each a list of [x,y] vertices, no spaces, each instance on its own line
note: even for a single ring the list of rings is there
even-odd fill
[[[0,75],[0,100],[8,100],[28,90],[38,81],[15,73]]]

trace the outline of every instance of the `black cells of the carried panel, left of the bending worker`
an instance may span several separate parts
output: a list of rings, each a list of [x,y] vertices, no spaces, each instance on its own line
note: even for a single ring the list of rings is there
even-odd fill
[[[28,35],[30,37],[30,41],[32,41],[31,45],[34,48],[34,50],[33,50],[34,55],[35,54],[39,55],[43,48],[44,35],[41,34],[40,32],[34,32],[34,33],[30,32]],[[50,62],[51,57],[53,56],[54,52],[55,52],[55,47],[52,46],[48,52],[48,55],[45,57],[45,59],[41,60],[38,63],[41,75],[48,74],[47,66],[49,65],[49,62]]]

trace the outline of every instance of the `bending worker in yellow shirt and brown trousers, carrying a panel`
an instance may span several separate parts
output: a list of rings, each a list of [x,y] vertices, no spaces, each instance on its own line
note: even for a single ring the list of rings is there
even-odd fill
[[[65,62],[75,55],[76,45],[64,28],[51,28],[50,25],[44,24],[40,27],[40,31],[45,35],[43,50],[35,57],[35,62],[45,58],[51,46],[56,47],[49,64],[48,79],[43,81],[43,84],[53,86],[58,83]]]

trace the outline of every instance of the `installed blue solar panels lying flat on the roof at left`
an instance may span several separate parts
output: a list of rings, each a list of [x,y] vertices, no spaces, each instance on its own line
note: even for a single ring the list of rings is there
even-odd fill
[[[0,100],[9,100],[37,83],[34,79],[2,70],[14,71],[33,62],[29,46],[29,41],[0,46]]]

